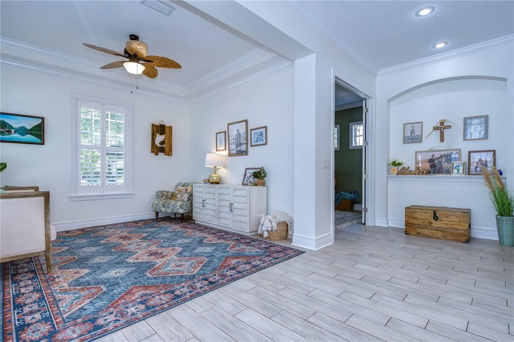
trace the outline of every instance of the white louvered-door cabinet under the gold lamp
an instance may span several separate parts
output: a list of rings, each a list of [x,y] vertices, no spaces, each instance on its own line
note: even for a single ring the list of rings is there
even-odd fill
[[[229,184],[194,184],[193,219],[243,235],[259,230],[259,214],[267,211],[268,188]]]

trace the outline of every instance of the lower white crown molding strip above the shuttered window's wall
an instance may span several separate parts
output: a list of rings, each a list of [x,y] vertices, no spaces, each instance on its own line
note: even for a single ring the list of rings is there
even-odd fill
[[[30,60],[22,60],[22,59],[16,59],[12,58],[14,56],[6,56],[5,54],[2,55],[2,58],[0,59],[0,65],[2,67],[7,68],[13,68],[18,70],[24,70],[34,73],[39,73],[51,77],[56,77],[60,79],[80,82],[80,83],[86,83],[86,84],[94,84],[99,87],[109,88],[109,89],[115,89],[115,90],[122,90],[127,91],[127,89],[130,89],[130,84],[120,81],[112,81],[104,78],[99,78],[94,75],[89,75],[85,73],[81,73],[76,70],[70,70],[61,68],[58,66],[50,65],[50,64],[37,64],[34,61]],[[186,103],[187,100],[183,99],[182,97],[176,96],[172,93],[167,93],[163,91],[158,91],[146,87],[139,87],[136,91],[136,94],[151,97],[151,98],[157,98],[157,99],[166,99],[170,101],[175,101],[179,103]]]

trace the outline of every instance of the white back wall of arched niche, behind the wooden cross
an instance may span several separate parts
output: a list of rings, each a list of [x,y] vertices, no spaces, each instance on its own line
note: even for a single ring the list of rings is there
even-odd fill
[[[489,115],[489,139],[463,141],[463,118]],[[447,119],[452,128],[427,135],[439,119]],[[469,150],[496,150],[496,165],[507,166],[507,83],[497,80],[454,80],[416,89],[391,102],[390,156],[400,158],[415,168],[414,153],[434,146],[437,149],[461,149],[461,161],[468,162]],[[403,144],[403,123],[423,121],[423,142]]]

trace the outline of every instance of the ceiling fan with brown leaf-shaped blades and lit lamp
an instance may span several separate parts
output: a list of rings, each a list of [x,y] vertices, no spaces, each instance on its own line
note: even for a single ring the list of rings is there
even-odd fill
[[[148,45],[146,45],[145,42],[139,41],[139,36],[131,34],[128,37],[130,38],[130,41],[125,43],[125,49],[123,50],[123,53],[96,45],[86,43],[82,44],[93,50],[113,54],[115,56],[120,56],[128,59],[128,61],[116,61],[109,64],[105,64],[104,66],[100,67],[100,69],[115,69],[125,67],[127,72],[130,72],[135,75],[139,75],[142,73],[148,78],[155,79],[157,77],[157,74],[159,73],[156,68],[182,68],[180,64],[167,57],[149,56]]]

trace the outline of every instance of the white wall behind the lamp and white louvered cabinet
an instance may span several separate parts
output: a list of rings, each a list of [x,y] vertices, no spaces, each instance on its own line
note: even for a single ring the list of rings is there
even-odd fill
[[[201,181],[212,173],[204,166],[205,154],[214,153],[215,133],[230,122],[248,120],[250,129],[268,126],[268,144],[248,147],[248,156],[227,157],[219,169],[222,183],[241,184],[247,167],[264,166],[268,172],[268,213],[294,214],[294,70],[273,74],[245,86],[191,104],[191,179]],[[306,182],[311,179],[306,179]]]

